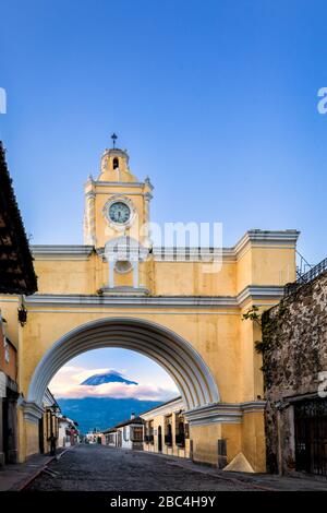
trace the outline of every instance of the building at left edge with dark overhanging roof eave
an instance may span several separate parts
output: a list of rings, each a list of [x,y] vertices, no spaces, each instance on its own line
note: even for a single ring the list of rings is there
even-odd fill
[[[0,141],[0,294],[9,300],[8,295],[17,295],[15,309],[4,309],[4,315],[0,308],[0,467],[17,458],[17,331],[25,322],[22,295],[36,290],[32,254]]]

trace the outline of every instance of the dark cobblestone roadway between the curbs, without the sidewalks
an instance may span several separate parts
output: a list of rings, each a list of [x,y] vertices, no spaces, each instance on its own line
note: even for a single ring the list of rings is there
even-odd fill
[[[50,464],[29,490],[244,490],[246,485],[220,480],[180,467],[174,460],[142,452],[81,444]],[[56,473],[56,474],[55,474]],[[58,473],[58,474],[57,474]]]

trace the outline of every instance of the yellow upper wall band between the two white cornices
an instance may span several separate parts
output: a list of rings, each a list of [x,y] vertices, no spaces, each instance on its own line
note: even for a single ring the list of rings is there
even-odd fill
[[[261,259],[264,262],[262,265]],[[39,294],[96,294],[108,285],[108,264],[97,254],[87,260],[35,258]],[[141,263],[141,282],[150,295],[237,296],[249,285],[282,286],[294,279],[294,248],[252,248],[238,262],[223,261],[218,273],[203,273],[202,262]],[[116,281],[132,283],[132,272]]]

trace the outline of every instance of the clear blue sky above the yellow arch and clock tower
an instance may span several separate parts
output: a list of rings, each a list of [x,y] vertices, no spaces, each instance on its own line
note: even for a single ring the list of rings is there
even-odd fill
[[[0,135],[34,243],[81,243],[83,183],[116,131],[153,220],[302,231],[326,256],[327,4],[4,0]]]

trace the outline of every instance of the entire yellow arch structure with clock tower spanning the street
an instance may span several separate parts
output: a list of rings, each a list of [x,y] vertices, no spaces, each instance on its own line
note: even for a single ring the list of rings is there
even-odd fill
[[[194,461],[217,465],[242,453],[265,470],[261,334],[242,314],[276,305],[295,279],[299,234],[254,229],[232,248],[174,247],[173,239],[158,247],[152,201],[150,180],[132,174],[128,153],[106,150],[85,184],[84,243],[33,247],[39,289],[24,302],[23,327],[20,298],[0,297],[13,320],[10,339],[23,351],[21,461],[39,451],[55,373],[88,349],[121,347],[156,360],[177,383]]]

